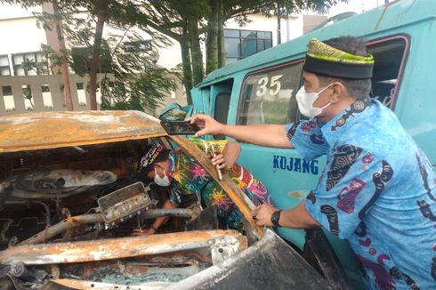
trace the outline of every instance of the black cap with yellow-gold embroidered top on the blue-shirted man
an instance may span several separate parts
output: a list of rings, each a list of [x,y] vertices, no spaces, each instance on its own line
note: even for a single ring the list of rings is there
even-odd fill
[[[365,79],[373,76],[374,57],[343,52],[316,38],[309,42],[303,69],[305,71],[346,79]]]

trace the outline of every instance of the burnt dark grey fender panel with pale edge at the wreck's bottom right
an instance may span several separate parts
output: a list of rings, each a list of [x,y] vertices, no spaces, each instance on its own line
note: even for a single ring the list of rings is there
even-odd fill
[[[245,251],[166,290],[337,289],[272,230]]]

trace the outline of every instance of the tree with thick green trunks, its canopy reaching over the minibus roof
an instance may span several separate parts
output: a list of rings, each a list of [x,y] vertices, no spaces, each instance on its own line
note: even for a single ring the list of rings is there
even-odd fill
[[[147,0],[141,2],[144,16],[141,23],[170,36],[181,45],[183,84],[190,103],[190,89],[203,76],[199,36],[206,36],[206,73],[225,65],[223,27],[234,18],[240,25],[247,15],[266,16],[312,10],[326,12],[329,7],[348,0]],[[287,14],[286,13],[286,14]],[[201,69],[200,69],[201,68]]]

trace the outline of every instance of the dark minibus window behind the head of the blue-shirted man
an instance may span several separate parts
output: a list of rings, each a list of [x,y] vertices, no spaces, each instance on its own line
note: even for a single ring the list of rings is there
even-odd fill
[[[368,51],[375,59],[370,95],[389,108],[393,107],[406,45],[406,39],[402,36],[367,44]]]

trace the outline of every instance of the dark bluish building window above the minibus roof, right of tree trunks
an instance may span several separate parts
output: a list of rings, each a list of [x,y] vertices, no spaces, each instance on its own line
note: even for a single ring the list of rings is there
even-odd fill
[[[246,58],[272,46],[270,31],[224,29],[226,62]]]

